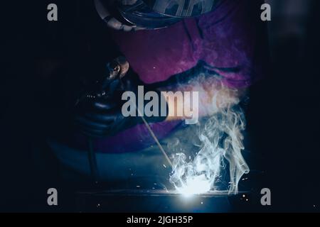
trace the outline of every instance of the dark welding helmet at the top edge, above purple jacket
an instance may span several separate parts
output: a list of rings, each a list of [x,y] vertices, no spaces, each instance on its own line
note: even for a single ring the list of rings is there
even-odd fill
[[[100,17],[117,30],[159,29],[213,11],[222,0],[95,0]]]

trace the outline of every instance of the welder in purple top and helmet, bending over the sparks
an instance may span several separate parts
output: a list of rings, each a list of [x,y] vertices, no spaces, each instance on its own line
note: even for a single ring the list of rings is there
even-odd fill
[[[77,70],[70,70],[72,79],[65,82],[73,84],[66,86],[68,114],[60,122],[71,129],[53,126],[48,138],[65,170],[78,178],[95,171],[99,181],[166,172],[163,165],[168,163],[154,146],[148,125],[158,140],[165,141],[183,125],[184,116],[170,114],[183,104],[167,99],[166,116],[146,117],[146,125],[139,116],[122,115],[123,92],[137,92],[138,85],[160,96],[161,91],[197,91],[201,116],[237,104],[264,70],[261,4],[250,0],[95,0],[97,16],[104,21],[99,29],[107,38],[100,38],[100,46],[91,40],[91,48],[105,50],[105,59],[76,62]],[[81,74],[85,79],[75,89]]]

